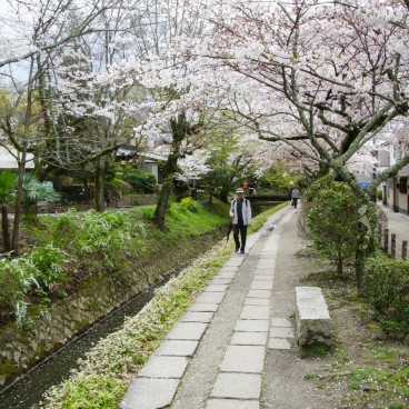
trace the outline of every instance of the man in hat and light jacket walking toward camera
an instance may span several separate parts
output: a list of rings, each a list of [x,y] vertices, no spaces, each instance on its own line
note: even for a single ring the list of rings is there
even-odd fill
[[[240,251],[243,253],[246,248],[247,227],[251,225],[251,207],[250,202],[245,199],[245,191],[241,188],[236,190],[236,199],[233,199],[230,207],[230,217],[233,225],[236,252]]]

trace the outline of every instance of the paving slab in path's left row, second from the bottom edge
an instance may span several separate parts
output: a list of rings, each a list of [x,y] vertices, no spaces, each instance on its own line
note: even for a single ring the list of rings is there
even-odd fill
[[[186,357],[153,356],[139,371],[139,377],[179,379],[182,377],[187,366],[188,359]]]

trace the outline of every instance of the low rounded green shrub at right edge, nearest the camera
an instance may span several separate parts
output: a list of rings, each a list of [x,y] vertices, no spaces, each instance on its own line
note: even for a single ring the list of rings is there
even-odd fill
[[[385,328],[409,331],[409,261],[380,252],[368,259],[363,291]]]

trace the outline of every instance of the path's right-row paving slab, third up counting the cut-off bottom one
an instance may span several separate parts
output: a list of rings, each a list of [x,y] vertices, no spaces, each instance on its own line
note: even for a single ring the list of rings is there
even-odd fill
[[[266,346],[229,346],[220,365],[223,372],[261,373]]]

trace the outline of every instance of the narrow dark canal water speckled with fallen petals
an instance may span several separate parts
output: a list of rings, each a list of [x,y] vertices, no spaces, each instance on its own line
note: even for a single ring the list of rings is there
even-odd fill
[[[156,286],[139,293],[126,305],[99,320],[87,331],[63,346],[28,373],[0,391],[0,409],[38,409],[43,393],[52,386],[66,380],[78,360],[99,340],[120,329],[126,317],[136,316],[154,296],[154,289],[163,286],[181,269],[169,272]]]

